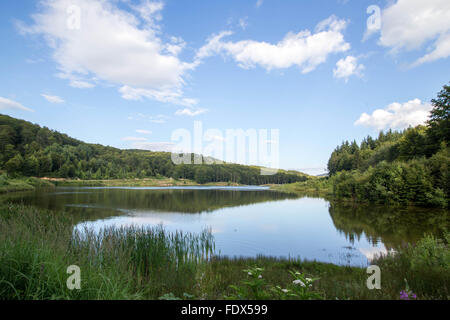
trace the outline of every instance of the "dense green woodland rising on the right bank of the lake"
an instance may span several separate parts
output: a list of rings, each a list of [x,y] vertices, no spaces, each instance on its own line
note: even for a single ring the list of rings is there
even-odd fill
[[[432,101],[426,126],[345,141],[328,161],[337,198],[448,207],[450,86]]]

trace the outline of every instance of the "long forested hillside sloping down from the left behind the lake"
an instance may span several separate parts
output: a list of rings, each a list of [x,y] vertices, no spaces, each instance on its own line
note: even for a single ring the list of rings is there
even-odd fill
[[[0,115],[0,169],[11,176],[73,179],[172,177],[198,183],[248,185],[304,181],[295,171],[260,175],[260,168],[238,164],[174,165],[168,152],[121,150],[87,144],[66,134]]]

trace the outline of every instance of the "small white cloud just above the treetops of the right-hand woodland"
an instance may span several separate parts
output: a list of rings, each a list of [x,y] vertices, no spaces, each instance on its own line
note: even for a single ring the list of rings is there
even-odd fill
[[[384,109],[377,109],[371,115],[363,113],[355,125],[373,127],[378,130],[405,129],[425,124],[433,106],[414,99],[405,103],[394,102]]]

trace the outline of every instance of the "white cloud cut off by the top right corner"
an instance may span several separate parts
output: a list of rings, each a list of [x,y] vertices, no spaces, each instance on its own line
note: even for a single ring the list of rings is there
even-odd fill
[[[413,66],[450,56],[450,1],[397,0],[381,13],[379,44],[401,50],[420,49],[431,44],[430,52]]]

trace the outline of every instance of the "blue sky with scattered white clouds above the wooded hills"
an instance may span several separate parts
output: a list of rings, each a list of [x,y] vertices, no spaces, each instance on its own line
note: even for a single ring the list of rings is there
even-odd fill
[[[2,114],[155,151],[200,122],[275,129],[278,166],[310,174],[425,123],[450,81],[448,0],[2,1],[0,40]]]

